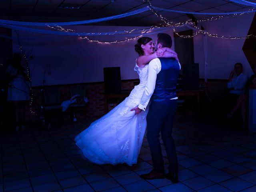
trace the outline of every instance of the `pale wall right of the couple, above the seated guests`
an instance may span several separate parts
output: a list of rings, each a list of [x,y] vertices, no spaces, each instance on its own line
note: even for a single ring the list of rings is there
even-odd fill
[[[223,36],[247,36],[254,14],[230,16],[221,20],[202,22],[206,31]],[[222,38],[207,38],[208,78],[228,79],[234,64],[241,62],[244,73],[250,76],[253,71],[242,50],[245,39],[232,40]],[[200,78],[204,78],[204,42],[203,35],[194,37],[195,62],[199,63]]]

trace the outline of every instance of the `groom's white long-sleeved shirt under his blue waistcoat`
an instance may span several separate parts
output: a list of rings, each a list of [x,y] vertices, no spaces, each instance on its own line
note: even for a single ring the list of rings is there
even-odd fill
[[[180,65],[180,62],[179,62],[179,65]],[[160,71],[161,71],[160,60],[158,58],[151,60],[148,64],[148,81],[146,83],[146,87],[142,95],[142,98],[140,99],[140,104],[138,105],[138,108],[142,110],[146,110],[146,107],[156,87],[156,76]],[[172,99],[178,99],[178,97],[175,97]]]

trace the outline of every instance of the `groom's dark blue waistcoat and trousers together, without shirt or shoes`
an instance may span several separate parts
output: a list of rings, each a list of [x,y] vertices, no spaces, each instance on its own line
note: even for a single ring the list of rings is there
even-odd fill
[[[159,58],[159,60],[161,62],[161,70],[156,77],[156,86],[147,115],[147,139],[154,171],[164,173],[164,160],[159,141],[161,132],[170,163],[168,170],[170,173],[176,173],[178,171],[178,161],[172,138],[172,124],[177,108],[175,98],[180,66],[174,58]]]

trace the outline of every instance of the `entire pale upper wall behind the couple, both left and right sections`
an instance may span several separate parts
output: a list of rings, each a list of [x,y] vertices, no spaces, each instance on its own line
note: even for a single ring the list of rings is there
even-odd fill
[[[246,36],[250,28],[254,14],[228,17],[221,20],[202,22],[206,31],[224,36]],[[115,30],[129,30],[138,27],[122,26],[66,26],[78,32],[104,32]],[[188,30],[188,28],[184,28]],[[165,32],[172,36],[171,28],[158,29],[152,34],[144,34],[156,39],[158,32]],[[132,34],[130,34],[132,36]],[[13,36],[16,33],[13,31]],[[99,40],[121,40],[123,36],[96,36],[90,37]],[[29,61],[32,70],[32,84],[42,85],[44,71],[46,85],[72,84],[83,82],[103,81],[103,68],[121,68],[121,79],[135,79],[138,74],[133,68],[138,54],[134,51],[136,40],[124,43],[98,44],[81,40],[73,36],[56,36],[30,32],[19,32],[23,49],[27,56],[33,56]],[[174,41],[173,41],[174,42]],[[227,79],[236,62],[244,66],[244,73],[250,76],[253,72],[242,51],[244,39],[230,40],[222,38],[211,38],[207,40],[208,52],[208,78]],[[174,48],[174,43],[172,48]],[[13,41],[13,51],[19,52],[17,43]],[[199,63],[200,78],[204,78],[204,43],[203,35],[194,37],[194,58]],[[48,68],[46,68],[48,64]]]

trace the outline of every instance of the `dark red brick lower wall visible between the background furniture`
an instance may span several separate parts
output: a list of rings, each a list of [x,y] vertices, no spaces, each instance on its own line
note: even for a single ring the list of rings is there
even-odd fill
[[[134,88],[134,82],[138,82],[139,80],[125,80],[122,81],[122,90],[132,90]],[[203,81],[201,81],[201,84],[204,84]],[[68,100],[70,99],[70,87],[72,85],[60,85],[60,101]],[[105,112],[105,106],[104,106],[104,83],[98,82],[98,83],[86,83],[86,97],[88,98],[89,102],[86,107],[86,115],[90,118],[100,118],[104,115]],[[223,96],[226,94],[226,81],[225,80],[208,80],[207,86],[207,93],[208,96],[213,101],[218,101],[223,98]],[[34,94],[36,96],[36,101],[38,104],[41,104],[42,102],[42,94],[40,92],[40,88],[34,88]],[[35,111],[37,114],[40,114],[38,112],[38,107],[35,103],[32,105],[32,110]],[[31,115],[30,113],[30,107],[29,105],[26,106],[26,120],[28,121],[34,121],[38,120],[38,116]]]

